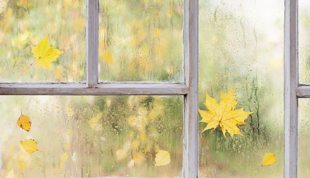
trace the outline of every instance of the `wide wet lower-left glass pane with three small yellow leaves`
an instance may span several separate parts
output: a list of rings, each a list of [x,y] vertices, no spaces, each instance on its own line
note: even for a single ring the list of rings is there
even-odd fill
[[[181,176],[183,96],[1,96],[0,103],[3,177]],[[29,132],[16,124],[21,110]],[[20,141],[28,139],[40,151],[27,153]],[[171,161],[156,167],[159,150]]]

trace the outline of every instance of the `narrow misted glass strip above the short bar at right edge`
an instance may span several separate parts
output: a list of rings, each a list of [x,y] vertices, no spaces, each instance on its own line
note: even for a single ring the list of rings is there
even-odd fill
[[[299,81],[310,83],[310,1],[298,1]]]

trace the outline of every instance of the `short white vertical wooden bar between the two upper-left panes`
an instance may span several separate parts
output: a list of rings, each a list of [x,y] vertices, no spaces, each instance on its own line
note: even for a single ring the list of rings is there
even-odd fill
[[[86,0],[86,85],[98,83],[98,15],[99,0]]]

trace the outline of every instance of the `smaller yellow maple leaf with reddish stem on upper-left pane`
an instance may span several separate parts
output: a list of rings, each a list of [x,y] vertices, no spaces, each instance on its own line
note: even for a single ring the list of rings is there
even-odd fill
[[[52,70],[51,62],[56,61],[56,58],[64,52],[55,49],[54,46],[50,47],[48,35],[38,43],[38,46],[30,46],[33,56],[36,57],[34,61],[36,62],[37,68],[43,67],[44,69]]]

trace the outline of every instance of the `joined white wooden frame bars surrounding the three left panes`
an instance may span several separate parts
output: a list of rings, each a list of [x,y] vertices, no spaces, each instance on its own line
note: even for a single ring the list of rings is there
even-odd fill
[[[98,16],[86,0],[86,83],[0,83],[0,95],[184,95],[182,177],[197,178],[198,0],[184,0],[184,83],[98,83]]]

